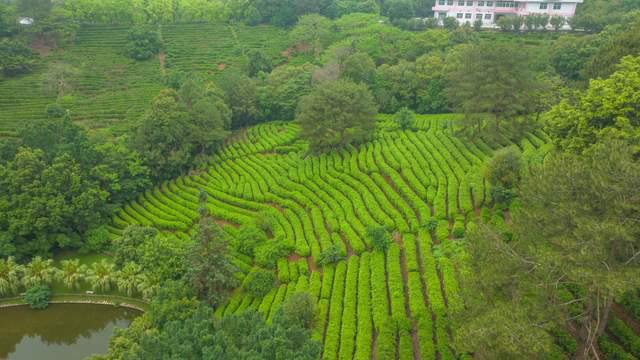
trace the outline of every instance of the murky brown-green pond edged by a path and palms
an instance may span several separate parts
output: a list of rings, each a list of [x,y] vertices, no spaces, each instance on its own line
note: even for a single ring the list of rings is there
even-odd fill
[[[0,359],[84,359],[104,354],[115,327],[127,327],[141,312],[109,305],[52,304],[0,309]]]

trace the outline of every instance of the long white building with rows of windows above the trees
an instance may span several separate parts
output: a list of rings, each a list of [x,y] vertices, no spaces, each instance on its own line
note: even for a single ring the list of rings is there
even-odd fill
[[[527,16],[547,14],[570,18],[583,0],[436,0],[433,12],[436,17],[454,17],[460,23],[482,20],[484,26],[495,26],[501,16]]]

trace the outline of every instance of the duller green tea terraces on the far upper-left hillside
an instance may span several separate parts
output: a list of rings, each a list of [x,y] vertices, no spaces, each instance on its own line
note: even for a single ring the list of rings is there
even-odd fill
[[[61,99],[72,118],[90,129],[124,131],[146,110],[164,87],[158,57],[136,62],[125,56],[127,27],[84,27],[65,50],[42,57],[26,76],[0,80],[0,137],[11,136],[29,119],[46,118],[56,96],[45,92],[53,64],[73,69],[65,82],[71,91]],[[231,27],[226,24],[172,25],[162,29],[167,69],[217,74],[244,65],[244,52],[262,49],[274,62],[287,48],[286,31],[271,27]]]

